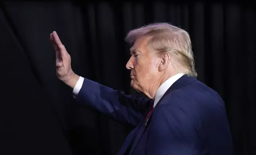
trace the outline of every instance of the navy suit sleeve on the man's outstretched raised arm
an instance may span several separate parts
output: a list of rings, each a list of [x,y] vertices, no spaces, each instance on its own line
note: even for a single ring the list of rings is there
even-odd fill
[[[149,98],[135,98],[123,91],[113,90],[95,81],[83,78],[76,100],[110,117],[137,126],[144,113],[153,104]]]

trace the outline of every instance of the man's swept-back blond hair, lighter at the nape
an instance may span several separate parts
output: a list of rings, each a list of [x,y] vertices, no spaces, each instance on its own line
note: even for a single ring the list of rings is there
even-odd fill
[[[142,36],[151,37],[148,42],[149,49],[170,53],[176,70],[197,77],[188,32],[169,23],[154,23],[131,30],[126,36],[126,42],[134,43]]]

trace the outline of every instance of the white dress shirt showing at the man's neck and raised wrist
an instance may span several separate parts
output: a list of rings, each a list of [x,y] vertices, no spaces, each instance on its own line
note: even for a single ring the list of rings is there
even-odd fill
[[[159,102],[159,100],[162,98],[162,96],[165,94],[165,92],[177,81],[180,77],[182,77],[184,73],[176,74],[175,76],[170,77],[167,79],[160,87],[157,89],[157,92],[155,93],[155,100],[154,100],[154,108]],[[78,82],[76,83],[76,86],[73,89],[74,98],[76,98],[76,95],[78,95],[80,89],[83,85],[83,77],[79,77]]]

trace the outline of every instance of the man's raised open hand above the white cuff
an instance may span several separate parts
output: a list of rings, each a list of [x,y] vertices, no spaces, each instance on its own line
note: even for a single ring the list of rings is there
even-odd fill
[[[70,87],[74,87],[79,77],[74,74],[71,68],[70,55],[68,54],[64,45],[61,43],[60,38],[55,31],[50,34],[50,41],[52,42],[52,46],[54,47],[56,53],[57,77],[64,83],[70,85]]]

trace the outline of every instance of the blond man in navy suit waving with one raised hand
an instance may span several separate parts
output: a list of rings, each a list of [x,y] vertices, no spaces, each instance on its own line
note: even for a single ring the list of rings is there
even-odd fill
[[[118,155],[232,155],[225,104],[196,79],[189,34],[168,23],[129,32],[131,86],[149,98],[125,95],[76,75],[56,32],[56,74],[76,100],[135,127]],[[124,106],[126,105],[126,106]]]

